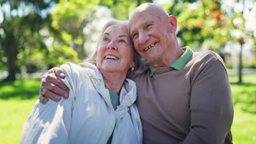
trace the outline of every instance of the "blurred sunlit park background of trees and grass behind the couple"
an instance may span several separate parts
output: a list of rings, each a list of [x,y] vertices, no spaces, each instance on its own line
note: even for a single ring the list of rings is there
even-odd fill
[[[234,143],[256,143],[254,0],[1,0],[0,143],[19,143],[48,69],[83,62],[104,23],[127,20],[145,2],[177,17],[181,46],[212,50],[224,59],[234,102]]]

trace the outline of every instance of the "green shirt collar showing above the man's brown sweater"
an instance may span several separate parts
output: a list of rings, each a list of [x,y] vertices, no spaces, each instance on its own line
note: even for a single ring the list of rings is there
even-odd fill
[[[193,51],[190,49],[189,46],[182,47],[182,50],[185,51],[183,55],[179,59],[177,59],[177,61],[171,64],[169,67],[172,67],[177,70],[181,70],[185,65],[185,63],[188,62],[188,59],[192,56]],[[149,69],[150,69],[150,76],[153,76],[157,68],[154,68],[152,67],[152,65],[149,64]]]

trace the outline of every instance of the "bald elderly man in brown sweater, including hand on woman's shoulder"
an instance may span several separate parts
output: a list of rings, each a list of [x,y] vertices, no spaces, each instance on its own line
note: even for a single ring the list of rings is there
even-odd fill
[[[132,11],[130,34],[149,69],[133,79],[143,123],[144,143],[232,143],[233,106],[223,60],[212,51],[181,49],[177,20],[159,5],[146,3]],[[68,96],[51,69],[42,79],[40,100]],[[67,90],[67,89],[66,89]]]

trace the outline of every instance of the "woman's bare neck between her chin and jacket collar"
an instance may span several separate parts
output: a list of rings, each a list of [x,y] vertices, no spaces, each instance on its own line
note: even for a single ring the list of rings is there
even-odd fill
[[[101,71],[105,87],[119,95],[120,89],[126,79],[126,75]]]

